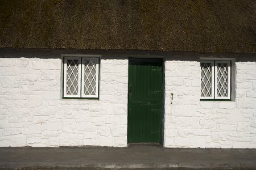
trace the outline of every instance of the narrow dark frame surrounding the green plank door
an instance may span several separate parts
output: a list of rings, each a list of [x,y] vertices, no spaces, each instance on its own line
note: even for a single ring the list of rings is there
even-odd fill
[[[164,98],[165,98],[165,66],[164,66],[164,58],[147,58],[147,57],[129,57],[128,58],[128,83],[127,83],[127,135],[126,135],[126,139],[127,139],[127,145],[129,145],[128,142],[128,114],[129,114],[129,63],[130,61],[147,61],[147,60],[151,60],[154,61],[161,59],[162,60],[162,134],[161,134],[161,140],[160,140],[160,145],[163,146],[163,141],[164,141]],[[133,143],[133,142],[130,142]],[[150,142],[149,142],[150,143]]]

